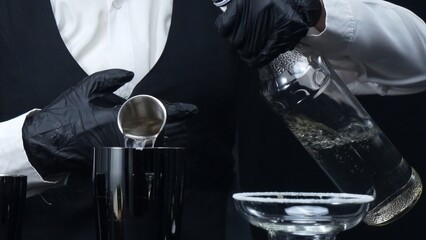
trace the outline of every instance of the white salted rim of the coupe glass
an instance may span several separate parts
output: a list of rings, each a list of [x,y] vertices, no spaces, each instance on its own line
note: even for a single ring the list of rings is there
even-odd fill
[[[266,196],[281,195],[281,198],[269,198]],[[300,199],[286,198],[303,197]],[[325,192],[242,192],[232,195],[238,201],[254,201],[269,203],[369,203],[374,200],[373,196],[366,194],[353,193],[325,193]],[[308,198],[307,198],[308,197]],[[309,197],[331,197],[327,199],[309,198]]]

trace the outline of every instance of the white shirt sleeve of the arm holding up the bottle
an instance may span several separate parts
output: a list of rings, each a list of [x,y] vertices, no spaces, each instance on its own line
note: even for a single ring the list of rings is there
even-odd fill
[[[324,0],[326,28],[303,43],[326,56],[355,94],[426,89],[426,25],[382,0]]]

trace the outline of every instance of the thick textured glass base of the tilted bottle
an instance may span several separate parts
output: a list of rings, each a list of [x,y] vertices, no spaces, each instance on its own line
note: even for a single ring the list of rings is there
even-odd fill
[[[382,226],[397,220],[416,204],[422,189],[420,176],[412,169],[410,180],[400,192],[395,194],[397,197],[389,198],[367,212],[363,221],[370,226]]]

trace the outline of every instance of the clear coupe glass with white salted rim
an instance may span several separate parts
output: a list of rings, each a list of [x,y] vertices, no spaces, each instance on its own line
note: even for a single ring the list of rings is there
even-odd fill
[[[355,227],[374,200],[349,193],[253,192],[233,195],[235,205],[270,240],[333,240]]]

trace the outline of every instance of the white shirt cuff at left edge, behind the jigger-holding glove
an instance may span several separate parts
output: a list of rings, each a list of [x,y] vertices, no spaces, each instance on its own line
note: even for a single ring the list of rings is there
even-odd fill
[[[21,129],[25,118],[34,111],[0,122],[0,174],[26,175],[27,196],[35,195],[47,188],[62,186],[67,179],[67,173],[64,173],[52,176],[52,181],[45,181],[28,161]]]

